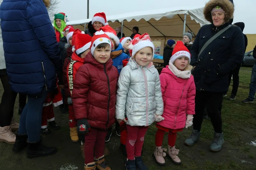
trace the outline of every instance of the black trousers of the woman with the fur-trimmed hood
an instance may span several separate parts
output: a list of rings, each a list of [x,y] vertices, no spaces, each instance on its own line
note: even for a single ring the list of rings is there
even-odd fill
[[[223,92],[200,92],[196,91],[196,108],[193,119],[193,129],[200,131],[203,122],[204,108],[211,118],[213,129],[216,133],[222,133],[222,119],[219,112],[222,104]]]

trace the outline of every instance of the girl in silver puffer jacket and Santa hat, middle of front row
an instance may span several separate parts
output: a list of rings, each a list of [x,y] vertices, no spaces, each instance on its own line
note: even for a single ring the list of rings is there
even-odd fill
[[[148,170],[141,159],[144,137],[150,124],[163,119],[164,103],[148,33],[133,39],[129,48],[132,57],[118,78],[116,119],[126,122],[126,169]]]

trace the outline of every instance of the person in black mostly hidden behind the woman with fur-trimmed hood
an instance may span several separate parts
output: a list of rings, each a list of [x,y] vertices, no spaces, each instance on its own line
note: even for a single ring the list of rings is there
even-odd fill
[[[234,25],[240,27],[242,32],[244,31],[244,23],[243,22],[237,22]],[[248,44],[248,39],[247,39],[247,36],[244,34],[244,53],[246,51],[247,44]],[[236,99],[236,93],[237,93],[238,86],[239,86],[239,70],[240,70],[240,67],[241,67],[241,65],[238,65],[234,70],[232,70],[229,73],[229,76],[228,76],[228,87],[230,85],[231,78],[233,77],[232,92],[231,92],[231,95],[228,98],[230,100]],[[224,96],[227,96],[227,92],[224,94]]]

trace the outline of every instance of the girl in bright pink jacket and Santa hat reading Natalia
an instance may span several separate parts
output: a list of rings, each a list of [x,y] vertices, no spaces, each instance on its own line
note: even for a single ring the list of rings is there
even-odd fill
[[[179,149],[176,149],[175,142],[177,132],[184,127],[188,128],[193,124],[195,114],[196,86],[191,75],[192,66],[190,53],[182,41],[178,41],[172,51],[169,65],[160,74],[162,95],[164,100],[164,120],[156,123],[156,149],[154,157],[156,163],[165,165],[163,152],[164,133],[168,133],[168,152],[175,164],[181,164]]]

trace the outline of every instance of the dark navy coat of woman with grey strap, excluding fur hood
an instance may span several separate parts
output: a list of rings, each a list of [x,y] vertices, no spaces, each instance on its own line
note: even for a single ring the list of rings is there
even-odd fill
[[[228,74],[241,64],[244,58],[244,35],[237,26],[230,27],[213,40],[199,56],[203,45],[214,34],[228,26],[204,25],[196,35],[191,47],[191,65],[194,69],[196,90],[225,92],[228,90]]]

